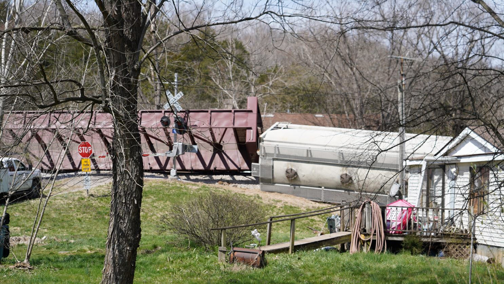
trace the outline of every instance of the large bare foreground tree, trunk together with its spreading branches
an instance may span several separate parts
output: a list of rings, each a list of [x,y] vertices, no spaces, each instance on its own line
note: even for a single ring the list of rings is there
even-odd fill
[[[40,17],[32,14],[37,21],[20,21],[5,28],[3,39],[18,38],[12,42],[24,43],[13,58],[18,66],[26,59],[29,68],[24,65],[26,74],[14,74],[2,82],[1,88],[8,91],[3,97],[21,97],[34,108],[55,109],[78,103],[81,109],[99,108],[111,113],[113,181],[102,282],[132,282],[141,238],[143,162],[137,108],[143,68],[151,68],[151,76],[158,77],[151,82],[156,82],[159,97],[159,69],[163,66],[155,61],[177,36],[196,40],[212,28],[258,20],[281,27],[287,24],[286,15],[282,7],[269,2],[191,6],[164,0],[96,0],[97,11],[81,8],[83,4],[73,0],[44,3],[39,8],[44,13],[57,11],[57,17],[38,21]],[[217,11],[211,11],[214,8]],[[311,8],[293,3],[289,15],[297,17],[296,13],[308,10]],[[158,18],[163,19],[162,24]],[[158,32],[160,26],[165,27],[163,32]],[[3,55],[2,60],[7,58]]]

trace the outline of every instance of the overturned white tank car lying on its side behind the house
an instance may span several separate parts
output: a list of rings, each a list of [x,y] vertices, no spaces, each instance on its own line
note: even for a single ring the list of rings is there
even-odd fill
[[[406,134],[405,159],[438,152],[452,137]],[[261,190],[348,202],[389,195],[400,170],[396,132],[276,123],[260,137]],[[404,192],[403,192],[404,193]]]

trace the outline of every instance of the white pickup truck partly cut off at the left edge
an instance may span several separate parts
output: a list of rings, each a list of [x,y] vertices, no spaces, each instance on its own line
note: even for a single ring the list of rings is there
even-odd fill
[[[0,195],[9,191],[39,197],[41,190],[40,170],[26,166],[16,158],[0,158]]]

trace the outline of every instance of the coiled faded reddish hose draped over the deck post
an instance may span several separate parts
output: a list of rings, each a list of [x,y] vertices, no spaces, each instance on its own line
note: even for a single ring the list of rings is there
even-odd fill
[[[369,203],[369,205],[371,206],[371,235],[367,239],[363,238],[360,234],[362,212],[364,211],[366,203]],[[376,236],[376,245],[374,253],[380,253],[382,252],[382,250],[386,250],[387,244],[385,243],[385,230],[382,219],[382,210],[380,209],[380,206],[376,202],[366,200],[362,203],[362,205],[360,205],[360,208],[357,212],[357,216],[355,218],[355,224],[352,230],[352,240],[350,242],[350,253],[352,254],[359,252],[361,244],[370,241],[366,251],[368,252],[371,249],[373,235]]]

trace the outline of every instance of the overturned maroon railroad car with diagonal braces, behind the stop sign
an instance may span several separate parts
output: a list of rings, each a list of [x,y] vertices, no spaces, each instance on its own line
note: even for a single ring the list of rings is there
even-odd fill
[[[178,115],[190,131],[177,135],[177,142],[199,149],[177,157],[179,171],[242,173],[258,161],[262,121],[256,97],[248,98],[247,109],[183,110]],[[164,154],[173,147],[173,129],[163,127],[160,120],[167,116],[173,122],[173,113],[141,110],[138,116],[145,171],[169,172],[172,159]],[[111,169],[113,124],[108,113],[17,111],[6,114],[4,120],[5,144],[17,145],[13,155],[24,156],[42,170],[80,171],[77,147],[83,141],[93,147],[92,169]]]

